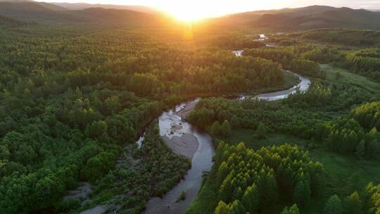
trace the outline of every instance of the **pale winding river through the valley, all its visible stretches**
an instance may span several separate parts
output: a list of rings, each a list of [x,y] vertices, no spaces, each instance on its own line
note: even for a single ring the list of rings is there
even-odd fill
[[[264,34],[260,35],[260,41],[265,40]],[[236,56],[241,56],[243,51],[234,51]],[[285,71],[289,72],[290,71]],[[307,77],[298,76],[300,82],[291,89],[287,89],[279,92],[272,92],[267,94],[259,94],[258,96],[244,96],[241,95],[237,100],[243,99],[261,99],[267,101],[277,101],[280,99],[285,99],[289,94],[293,94],[297,91],[307,91],[310,87],[310,80]],[[169,144],[173,151],[186,151],[191,150],[194,145],[194,154],[191,158],[191,169],[187,172],[184,180],[181,180],[173,189],[167,192],[163,198],[152,198],[148,201],[146,206],[145,214],[177,214],[184,213],[187,208],[189,208],[191,202],[195,199],[201,188],[201,183],[203,179],[203,172],[210,171],[213,166],[213,156],[215,155],[215,149],[213,145],[213,139],[205,131],[198,129],[195,125],[191,125],[186,122],[186,113],[191,111],[199,99],[194,99],[193,101],[188,101],[179,104],[170,111],[164,112],[160,115],[159,127],[160,135],[165,139],[165,141],[171,141],[177,139],[177,144]],[[192,136],[191,141],[186,141]],[[179,139],[179,141],[178,141]],[[182,140],[181,140],[182,139]],[[144,140],[144,136],[141,136],[137,144],[141,146]],[[174,147],[173,147],[174,145]],[[177,148],[175,147],[177,146]],[[179,147],[179,148],[178,148]],[[183,154],[183,153],[182,153]],[[178,201],[179,196],[182,191],[186,192],[186,199],[184,201]]]

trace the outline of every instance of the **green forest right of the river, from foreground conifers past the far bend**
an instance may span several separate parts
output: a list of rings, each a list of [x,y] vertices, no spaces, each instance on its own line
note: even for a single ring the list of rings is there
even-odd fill
[[[287,39],[286,37],[288,35],[274,35],[270,41],[281,42]],[[307,46],[315,49],[309,52]],[[187,213],[376,213],[379,207],[374,190],[377,187],[373,182],[375,180],[379,182],[374,178],[379,172],[375,166],[379,163],[380,152],[379,83],[372,77],[367,78],[368,75],[365,73],[334,67],[338,66],[346,51],[350,52],[342,46],[307,44],[303,39],[294,39],[291,44],[282,44],[279,48],[261,49],[246,49],[243,55],[271,59],[289,70],[291,70],[289,59],[292,61],[293,58],[304,60],[308,58],[308,61],[318,65],[319,74],[323,75],[315,75],[315,72],[302,73],[312,77],[310,89],[307,92],[290,94],[287,99],[280,101],[260,101],[255,98],[236,101],[213,97],[202,99],[197,103],[187,120],[208,130],[217,142],[218,149],[215,167],[206,178],[198,198]],[[365,50],[367,49],[362,51]],[[372,52],[366,53],[368,53],[366,56],[376,58]],[[329,57],[323,58],[323,56]],[[226,151],[226,156],[224,153],[220,156],[218,152],[220,146],[226,145],[224,142],[229,143],[227,148],[232,146],[232,151],[236,155],[227,156],[229,149],[223,149]],[[288,187],[293,189],[288,189],[286,193],[281,192],[283,187],[281,182],[284,182],[283,178],[286,177],[284,175],[277,177],[277,172],[281,172],[284,167],[281,162],[286,160],[281,156],[284,153],[281,153],[278,162],[274,162],[279,165],[274,163],[270,165],[274,176],[277,177],[277,191],[281,192],[277,195],[293,195],[282,199],[279,197],[277,202],[271,203],[277,206],[260,207],[262,206],[260,200],[266,200],[262,199],[258,186],[260,184],[251,179],[254,185],[250,186],[240,180],[240,178],[247,180],[246,175],[239,177],[239,172],[244,168],[242,165],[249,164],[245,156],[239,153],[238,148],[241,146],[248,151],[251,149],[251,153],[259,153],[264,160],[265,158],[272,160],[271,157],[277,156],[276,152],[285,150],[286,146],[289,148],[296,146],[294,148],[300,150],[299,153],[306,152],[305,156],[310,160],[301,163],[320,161],[321,171],[324,173],[322,175],[324,179],[319,183],[321,185],[318,188],[319,194],[312,194],[312,188],[308,186],[312,183],[310,180],[297,184],[299,177],[296,176],[297,170],[291,174],[293,178],[289,179],[293,184],[289,184]],[[270,152],[265,156],[262,155],[262,151]],[[291,151],[286,155],[296,158],[290,153]],[[239,156],[242,158],[239,159]],[[334,157],[338,158],[337,156],[340,158],[339,161],[334,160]],[[224,169],[226,168],[224,164],[218,162],[220,157],[226,162],[228,170]],[[239,163],[231,163],[232,157],[237,157]],[[293,160],[293,163],[298,161],[300,160]],[[344,165],[348,163],[352,163],[353,167]],[[369,165],[373,165],[373,168]],[[357,168],[360,167],[367,169],[360,170],[362,174],[356,174]],[[294,170],[292,167],[291,169]],[[375,175],[372,174],[374,171]],[[229,181],[234,191],[229,191],[231,198],[225,198],[222,196],[224,186],[213,181],[218,180],[220,174],[229,175],[229,173],[234,174],[236,181]],[[310,173],[312,172],[305,175]],[[251,175],[250,171],[248,175]],[[345,176],[349,177],[348,180],[343,178]],[[346,185],[346,189],[334,187],[335,185],[342,187]],[[236,191],[240,189],[242,194],[239,199]],[[258,189],[252,194],[254,199],[250,198],[250,201],[259,201],[253,203],[255,210],[250,210],[251,207],[244,203],[246,200],[244,196],[250,196],[252,189]],[[297,201],[296,189],[302,189],[303,195],[300,199],[311,199],[312,202]],[[215,201],[215,198],[219,201]]]

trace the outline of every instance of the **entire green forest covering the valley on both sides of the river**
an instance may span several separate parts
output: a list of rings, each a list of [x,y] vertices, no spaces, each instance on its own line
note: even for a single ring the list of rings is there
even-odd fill
[[[379,31],[265,28],[260,39],[251,27],[225,32],[223,18],[191,28],[30,4],[0,2],[0,213],[144,212],[193,167],[158,118],[198,97],[181,122],[203,130],[215,156],[184,212],[380,212]],[[305,20],[308,9],[285,12]],[[250,15],[225,22],[239,29]],[[299,83],[284,70],[310,88],[258,99]],[[82,187],[91,192],[70,195]]]

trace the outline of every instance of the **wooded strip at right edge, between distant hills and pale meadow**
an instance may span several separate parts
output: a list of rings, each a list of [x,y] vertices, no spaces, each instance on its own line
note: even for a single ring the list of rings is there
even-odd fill
[[[334,63],[339,68],[380,81],[380,32],[376,30],[322,29],[277,35],[280,44],[314,43],[314,50],[303,58],[319,63]],[[308,44],[310,45],[310,44]],[[334,46],[331,46],[334,45]],[[299,52],[298,52],[299,53]],[[302,51],[301,51],[302,53]],[[322,53],[322,54],[321,54]],[[288,53],[289,54],[289,53]],[[287,55],[287,57],[289,57]],[[289,60],[289,59],[288,59]]]

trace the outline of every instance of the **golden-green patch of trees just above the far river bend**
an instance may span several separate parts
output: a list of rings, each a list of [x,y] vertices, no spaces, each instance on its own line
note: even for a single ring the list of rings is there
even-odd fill
[[[243,52],[243,55],[267,58],[280,63],[286,70],[311,77],[324,78],[326,74],[319,68],[319,63],[332,61],[336,58],[334,52],[334,49],[327,46],[308,44],[270,49],[247,49]]]

